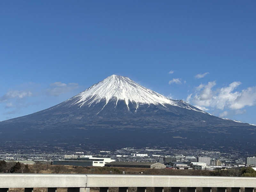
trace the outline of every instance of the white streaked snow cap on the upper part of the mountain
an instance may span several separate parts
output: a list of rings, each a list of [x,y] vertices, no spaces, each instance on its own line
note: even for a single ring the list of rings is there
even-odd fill
[[[71,99],[74,100],[72,105],[78,105],[79,107],[82,107],[83,105],[88,105],[90,107],[92,104],[98,103],[102,100],[105,100],[106,106],[110,100],[114,99],[116,101],[116,105],[118,100],[124,100],[128,109],[129,102],[135,102],[137,108],[140,104],[160,104],[164,107],[166,104],[169,104],[206,113],[203,110],[189,105],[183,100],[168,99],[157,92],[137,84],[128,77],[117,75],[107,77]]]

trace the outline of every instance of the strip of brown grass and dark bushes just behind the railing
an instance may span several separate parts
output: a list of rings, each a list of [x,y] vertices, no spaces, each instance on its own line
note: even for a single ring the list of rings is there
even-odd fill
[[[251,167],[242,169],[227,169],[218,171],[207,170],[175,170],[148,169],[125,167],[82,167],[68,165],[20,164],[0,161],[1,173],[80,173],[80,174],[146,174],[146,175],[201,175],[201,176],[231,176],[256,177],[256,171]]]

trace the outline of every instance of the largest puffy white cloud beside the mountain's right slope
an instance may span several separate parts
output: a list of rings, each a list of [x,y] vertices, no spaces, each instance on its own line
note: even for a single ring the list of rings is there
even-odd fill
[[[189,94],[187,100],[194,105],[224,110],[239,110],[245,106],[256,105],[256,87],[248,87],[241,92],[235,91],[241,82],[233,82],[226,87],[213,90],[215,81],[200,84],[196,92]],[[222,114],[224,115],[224,114]]]

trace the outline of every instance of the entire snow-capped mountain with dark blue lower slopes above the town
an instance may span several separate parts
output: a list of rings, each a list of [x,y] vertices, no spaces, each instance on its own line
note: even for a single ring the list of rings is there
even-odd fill
[[[100,149],[170,146],[252,151],[255,134],[256,126],[212,116],[117,75],[56,106],[0,122],[2,142],[32,142],[35,148],[72,143]]]

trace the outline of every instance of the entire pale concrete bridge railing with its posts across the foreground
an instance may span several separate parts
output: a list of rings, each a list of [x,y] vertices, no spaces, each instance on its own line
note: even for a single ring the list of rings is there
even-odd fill
[[[68,188],[68,192],[90,192],[90,188],[99,187],[100,192],[108,192],[109,187],[118,187],[119,192],[128,192],[128,187],[137,187],[138,192],[146,192],[146,187],[154,187],[155,192],[163,192],[164,187],[171,187],[171,192],[180,192],[186,187],[188,192],[254,192],[254,177],[217,177],[217,176],[176,176],[176,175],[115,175],[115,174],[0,174],[0,192],[9,188],[25,188],[25,192],[33,192],[33,188],[47,188],[55,192],[57,188]]]

